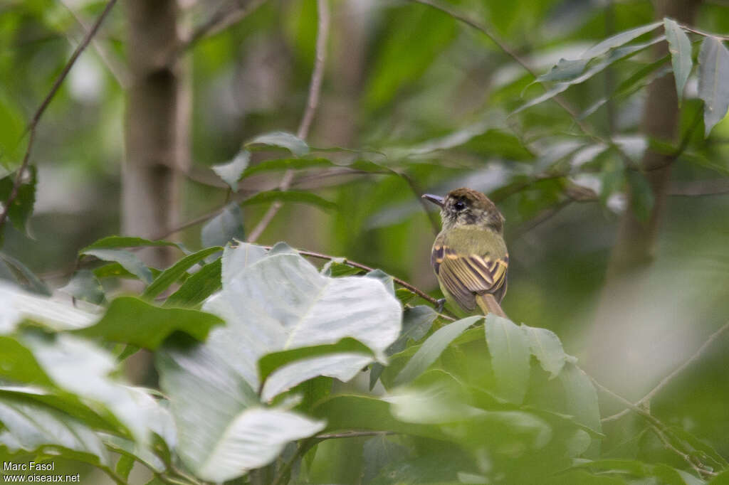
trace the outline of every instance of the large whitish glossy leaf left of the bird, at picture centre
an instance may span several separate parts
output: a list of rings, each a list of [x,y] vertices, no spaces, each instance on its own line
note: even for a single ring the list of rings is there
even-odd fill
[[[400,330],[397,299],[378,280],[325,277],[288,251],[242,271],[226,268],[224,262],[224,274],[235,277],[203,309],[220,315],[227,326],[211,334],[210,344],[230,352],[253,387],[260,385],[257,361],[270,352],[351,337],[384,360]]]

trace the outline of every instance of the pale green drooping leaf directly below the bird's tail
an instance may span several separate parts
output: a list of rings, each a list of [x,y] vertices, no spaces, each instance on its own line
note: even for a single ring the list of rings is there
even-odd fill
[[[529,339],[511,320],[486,316],[486,342],[499,395],[521,404],[529,385]]]

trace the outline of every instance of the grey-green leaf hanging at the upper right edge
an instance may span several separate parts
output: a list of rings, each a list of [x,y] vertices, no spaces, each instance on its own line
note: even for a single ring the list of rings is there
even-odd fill
[[[729,109],[729,51],[716,37],[707,36],[698,53],[698,97],[703,100],[704,135]]]

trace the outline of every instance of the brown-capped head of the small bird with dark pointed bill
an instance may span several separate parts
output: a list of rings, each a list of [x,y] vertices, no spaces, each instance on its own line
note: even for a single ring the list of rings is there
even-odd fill
[[[440,205],[443,229],[460,226],[480,226],[501,234],[504,232],[504,216],[486,195],[462,187],[448,192],[445,197],[425,194],[424,199]]]

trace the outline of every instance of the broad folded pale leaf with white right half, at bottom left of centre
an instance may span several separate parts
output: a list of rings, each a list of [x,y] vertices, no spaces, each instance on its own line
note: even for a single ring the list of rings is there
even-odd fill
[[[259,407],[252,388],[231,366],[235,360],[221,350],[175,344],[157,352],[160,384],[179,433],[177,454],[195,476],[216,482],[268,465],[289,441],[324,428],[324,422],[290,411]]]

